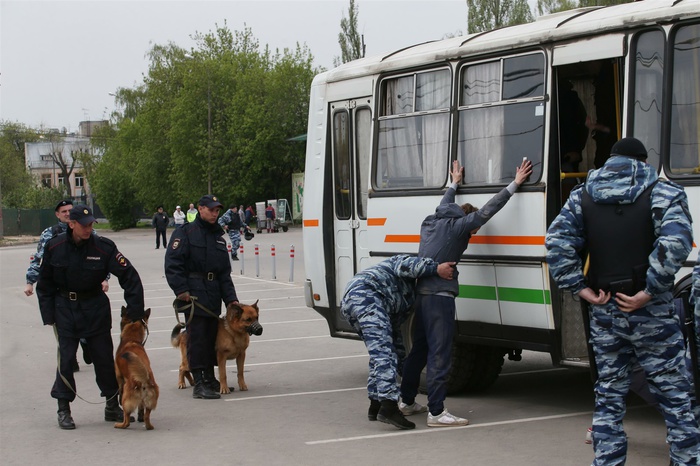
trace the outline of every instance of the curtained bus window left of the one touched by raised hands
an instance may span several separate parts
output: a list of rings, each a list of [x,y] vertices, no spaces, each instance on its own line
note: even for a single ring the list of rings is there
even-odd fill
[[[421,72],[381,83],[374,185],[442,187],[447,179],[451,74]]]

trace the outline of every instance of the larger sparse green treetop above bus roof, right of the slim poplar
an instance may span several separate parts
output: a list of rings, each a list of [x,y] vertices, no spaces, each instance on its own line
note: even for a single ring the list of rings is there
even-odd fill
[[[534,20],[527,0],[467,0],[469,34]]]

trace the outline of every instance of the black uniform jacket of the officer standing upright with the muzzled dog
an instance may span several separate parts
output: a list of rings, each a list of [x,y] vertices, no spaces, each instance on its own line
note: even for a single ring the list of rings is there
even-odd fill
[[[165,251],[165,278],[175,296],[189,291],[216,315],[221,313],[222,301],[226,305],[238,301],[223,235],[218,223],[207,223],[197,214],[194,222],[173,232]],[[197,306],[195,314],[210,316]]]

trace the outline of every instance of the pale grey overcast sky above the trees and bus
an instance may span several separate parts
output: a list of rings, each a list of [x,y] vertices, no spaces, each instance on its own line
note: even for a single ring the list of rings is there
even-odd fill
[[[77,131],[108,118],[109,93],[134,87],[153,44],[189,49],[196,32],[247,25],[263,47],[340,55],[349,0],[0,0],[0,119]],[[465,0],[356,0],[367,56],[466,32]]]

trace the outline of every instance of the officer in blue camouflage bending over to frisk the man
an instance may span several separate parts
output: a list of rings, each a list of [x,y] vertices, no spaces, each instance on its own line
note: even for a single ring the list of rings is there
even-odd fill
[[[454,265],[398,255],[359,272],[348,283],[340,313],[357,330],[369,352],[370,421],[379,419],[399,429],[416,427],[398,407],[398,363],[406,355],[401,324],[415,301],[416,278],[439,275],[449,280]]]

